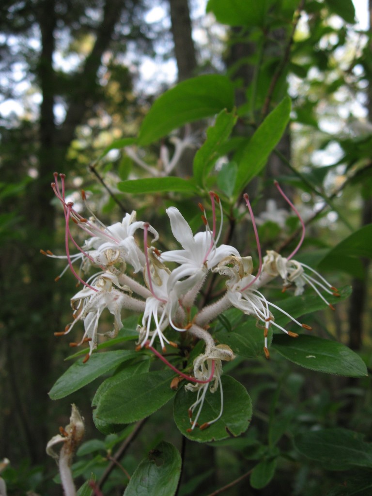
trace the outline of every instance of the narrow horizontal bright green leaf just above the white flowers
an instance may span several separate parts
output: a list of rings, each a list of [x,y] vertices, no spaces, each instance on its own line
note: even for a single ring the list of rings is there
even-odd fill
[[[197,188],[191,181],[173,176],[122,181],[121,183],[118,183],[118,188],[124,193],[131,194],[160,193],[163,191],[195,193],[197,191]]]

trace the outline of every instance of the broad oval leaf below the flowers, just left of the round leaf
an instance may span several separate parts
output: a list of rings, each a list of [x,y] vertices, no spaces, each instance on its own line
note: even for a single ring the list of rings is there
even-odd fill
[[[146,372],[105,391],[96,417],[113,424],[130,424],[144,419],[165,405],[176,393],[171,389],[172,371]]]

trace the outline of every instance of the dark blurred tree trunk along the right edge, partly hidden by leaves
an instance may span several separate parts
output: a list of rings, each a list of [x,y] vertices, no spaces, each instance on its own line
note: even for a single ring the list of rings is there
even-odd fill
[[[372,0],[369,1],[369,19],[370,19],[370,50],[372,50]],[[368,97],[368,115],[372,120],[372,81],[369,81],[367,88]],[[372,197],[365,198],[362,205],[361,226],[372,223]],[[352,286],[353,292],[350,297],[349,308],[349,346],[353,350],[360,350],[363,344],[364,313],[368,298],[369,268],[370,261],[365,258],[362,260],[364,265],[364,279],[354,279]]]

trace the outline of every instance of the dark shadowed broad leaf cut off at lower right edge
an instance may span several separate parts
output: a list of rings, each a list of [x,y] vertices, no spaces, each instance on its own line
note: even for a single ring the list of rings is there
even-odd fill
[[[372,467],[372,443],[365,442],[363,437],[354,431],[334,428],[298,434],[294,443],[300,453],[330,470]]]

